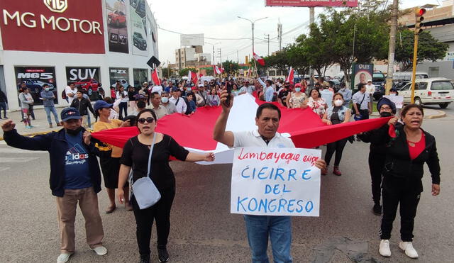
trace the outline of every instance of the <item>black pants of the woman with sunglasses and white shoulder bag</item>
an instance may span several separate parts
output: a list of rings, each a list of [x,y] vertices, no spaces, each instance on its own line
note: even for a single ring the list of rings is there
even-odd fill
[[[157,248],[165,248],[170,232],[170,208],[175,197],[175,187],[161,191],[160,201],[150,207],[140,210],[133,196],[135,223],[137,224],[136,237],[140,255],[150,254],[151,227],[156,220]]]

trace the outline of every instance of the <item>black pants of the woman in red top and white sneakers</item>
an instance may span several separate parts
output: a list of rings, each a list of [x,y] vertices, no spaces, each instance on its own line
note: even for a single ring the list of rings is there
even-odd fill
[[[413,241],[414,217],[418,208],[421,193],[417,193],[402,184],[389,185],[383,183],[383,217],[380,239],[389,240],[391,237],[392,223],[396,218],[397,205],[400,203],[400,237],[404,242]]]

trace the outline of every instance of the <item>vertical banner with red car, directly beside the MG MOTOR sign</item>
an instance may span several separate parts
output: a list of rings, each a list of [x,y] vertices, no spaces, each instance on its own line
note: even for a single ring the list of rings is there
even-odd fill
[[[129,53],[127,4],[128,0],[106,0],[107,39],[111,52]]]

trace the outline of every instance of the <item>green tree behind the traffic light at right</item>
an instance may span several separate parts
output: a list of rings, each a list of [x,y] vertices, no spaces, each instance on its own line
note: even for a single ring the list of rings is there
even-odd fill
[[[401,70],[406,71],[413,67],[414,33],[404,28],[399,30],[397,36],[395,60],[402,64]],[[433,38],[430,32],[423,31],[419,34],[417,62],[440,60],[445,57],[448,47],[448,44]]]

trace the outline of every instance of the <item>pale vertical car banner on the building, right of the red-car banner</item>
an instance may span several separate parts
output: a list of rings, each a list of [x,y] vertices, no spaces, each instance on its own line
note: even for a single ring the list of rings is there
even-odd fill
[[[148,55],[147,15],[145,0],[130,0],[131,32],[134,55]]]

